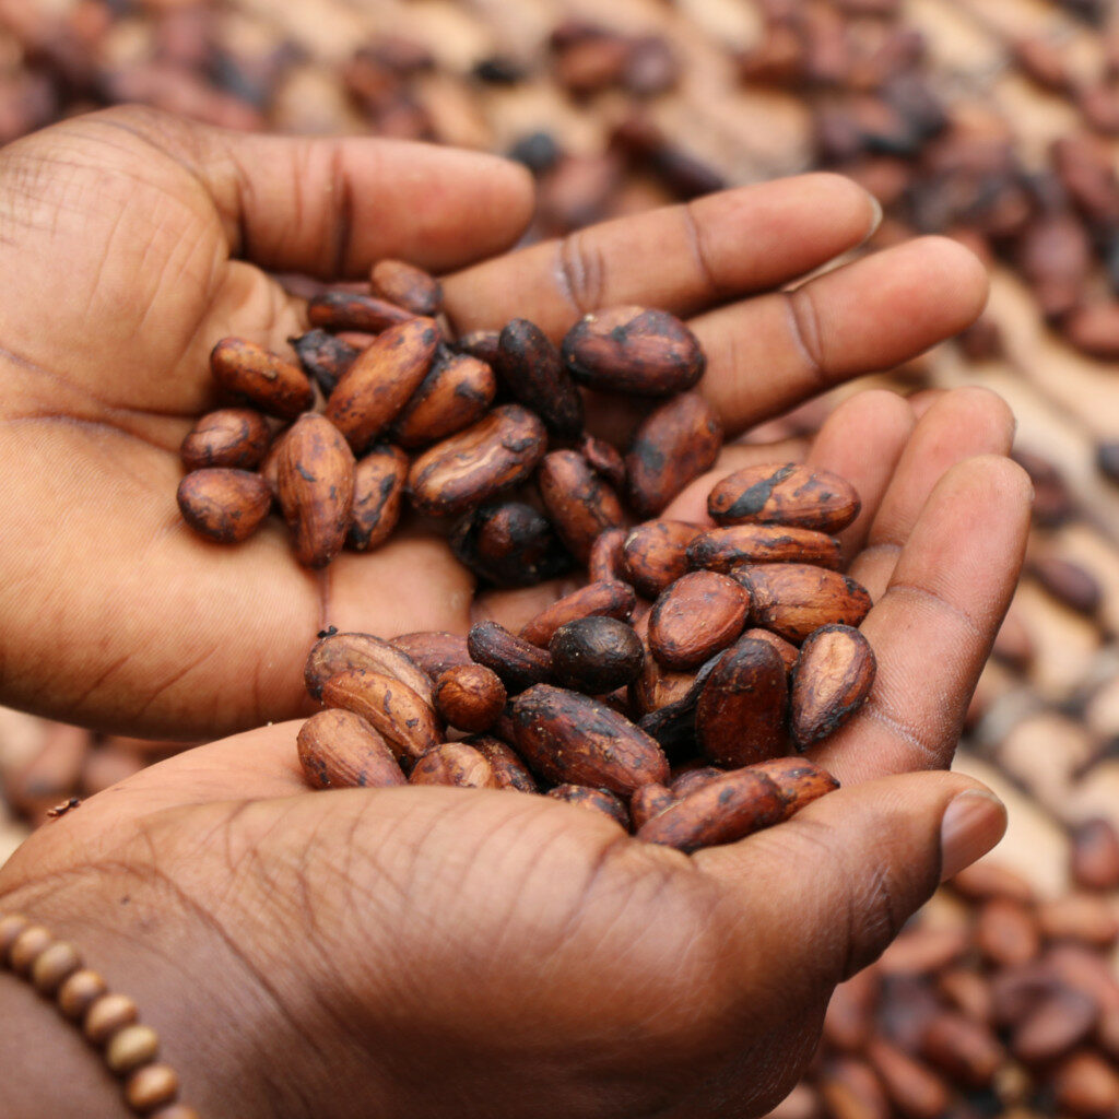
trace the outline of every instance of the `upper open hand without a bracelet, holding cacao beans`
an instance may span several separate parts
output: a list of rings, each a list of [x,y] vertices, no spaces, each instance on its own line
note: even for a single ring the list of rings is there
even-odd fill
[[[664,307],[703,341],[700,389],[732,435],[956,332],[984,299],[974,258],[937,238],[780,291],[874,225],[869,197],[834,176],[495,256],[530,206],[523,170],[490,157],[133,109],[0,152],[3,702],[210,737],[304,712],[301,666],[325,626],[469,623],[473,582],[440,537],[405,529],[314,573],[279,523],[236,548],[184,525],[178,448],[215,403],[210,347],[234,333],[283,351],[304,328],[272,273],[354,279],[411,260],[444,273],[461,330],[524,316],[558,337],[596,305]]]

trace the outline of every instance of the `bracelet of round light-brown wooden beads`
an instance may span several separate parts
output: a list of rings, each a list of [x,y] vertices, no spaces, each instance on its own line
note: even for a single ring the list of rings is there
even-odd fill
[[[110,1071],[124,1081],[124,1099],[148,1119],[200,1119],[186,1103],[177,1103],[179,1078],[156,1061],[159,1035],[140,1025],[135,1003],[114,995],[96,971],[82,966],[77,949],[55,940],[49,929],[20,913],[0,915],[0,967],[7,966],[55,1002],[62,1015],[81,1023],[86,1041],[102,1050]]]

